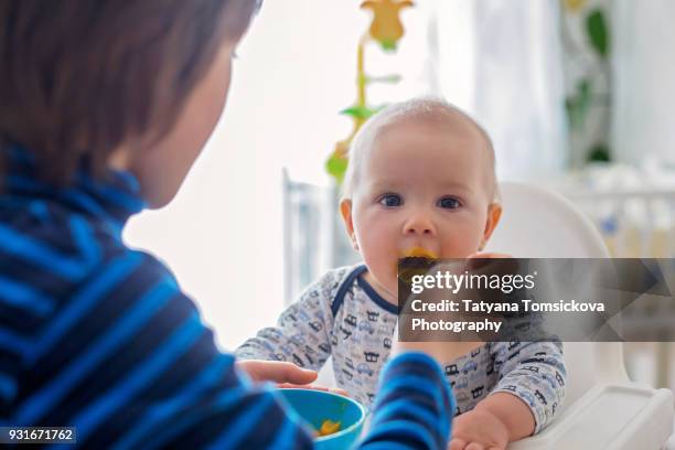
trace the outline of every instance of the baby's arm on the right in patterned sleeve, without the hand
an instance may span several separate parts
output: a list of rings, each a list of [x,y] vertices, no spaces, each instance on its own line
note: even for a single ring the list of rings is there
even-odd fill
[[[539,432],[565,399],[561,343],[499,342],[492,344],[492,352],[500,381],[476,409],[484,408],[501,418],[515,439]]]

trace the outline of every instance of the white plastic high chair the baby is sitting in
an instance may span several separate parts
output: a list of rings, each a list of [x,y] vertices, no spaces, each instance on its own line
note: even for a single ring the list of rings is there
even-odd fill
[[[503,215],[488,251],[518,258],[608,258],[590,221],[562,196],[501,184]],[[567,396],[539,435],[508,449],[660,449],[673,432],[673,393],[632,382],[621,342],[566,342]]]

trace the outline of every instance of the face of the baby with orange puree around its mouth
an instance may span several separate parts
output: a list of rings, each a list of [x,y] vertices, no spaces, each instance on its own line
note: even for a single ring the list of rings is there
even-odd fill
[[[463,258],[482,247],[499,218],[490,214],[489,154],[459,119],[408,120],[379,133],[352,197],[354,237],[376,288],[395,298],[403,256]]]

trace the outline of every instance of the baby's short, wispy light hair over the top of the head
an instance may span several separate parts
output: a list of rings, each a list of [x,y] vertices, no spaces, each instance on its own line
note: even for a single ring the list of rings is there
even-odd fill
[[[468,126],[478,131],[479,136],[484,141],[485,151],[488,152],[490,164],[491,183],[494,186],[494,201],[499,200],[496,176],[495,176],[495,158],[492,140],[488,132],[468,114],[451,105],[450,103],[435,97],[413,98],[407,101],[389,105],[371,117],[364,126],[358,130],[350,147],[350,164],[344,176],[342,185],[342,197],[352,199],[356,186],[358,185],[361,171],[364,162],[368,157],[368,152],[373,149],[377,138],[389,126],[395,126],[403,121],[419,121],[429,124],[457,124],[458,120],[463,121]]]

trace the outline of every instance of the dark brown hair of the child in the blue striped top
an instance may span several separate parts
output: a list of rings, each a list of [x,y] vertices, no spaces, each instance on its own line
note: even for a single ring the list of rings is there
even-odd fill
[[[157,142],[259,1],[2,0],[0,164],[20,146],[65,184],[83,160],[100,174],[120,144]]]

